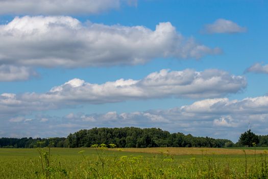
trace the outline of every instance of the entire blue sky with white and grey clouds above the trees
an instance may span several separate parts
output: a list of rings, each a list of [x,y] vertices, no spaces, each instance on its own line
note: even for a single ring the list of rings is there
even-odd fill
[[[268,135],[268,2],[0,0],[0,137]]]

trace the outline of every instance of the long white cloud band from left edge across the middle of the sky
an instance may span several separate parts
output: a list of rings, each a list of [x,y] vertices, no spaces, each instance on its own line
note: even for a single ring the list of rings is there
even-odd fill
[[[58,109],[81,104],[101,104],[156,98],[214,98],[237,93],[245,88],[245,77],[230,75],[225,71],[206,70],[196,72],[161,70],[140,80],[119,79],[103,84],[92,84],[72,79],[53,87],[49,92],[2,94],[1,115],[29,113],[32,110]],[[67,116],[71,118],[71,114]],[[148,116],[155,121],[164,119]],[[114,114],[107,114],[107,119]],[[91,120],[85,118],[85,120]]]

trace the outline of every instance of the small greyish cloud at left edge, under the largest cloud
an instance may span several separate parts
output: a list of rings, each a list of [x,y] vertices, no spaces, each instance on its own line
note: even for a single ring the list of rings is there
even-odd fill
[[[25,81],[37,73],[25,66],[0,65],[0,81]]]

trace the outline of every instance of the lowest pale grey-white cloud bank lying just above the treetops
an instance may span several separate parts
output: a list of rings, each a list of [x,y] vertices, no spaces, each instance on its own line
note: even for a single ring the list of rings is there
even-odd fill
[[[31,128],[32,136],[38,133],[43,137],[66,137],[70,131],[75,132],[92,127],[160,127],[170,132],[227,138],[235,142],[239,135],[248,129],[249,122],[254,132],[259,135],[267,134],[267,108],[268,96],[242,100],[215,98],[170,109],[152,109],[131,113],[120,114],[110,111],[105,114],[70,113],[64,117],[37,116],[31,123],[26,123],[24,117],[16,117],[12,118],[5,128],[0,126],[0,130],[8,135],[8,133],[15,133],[14,128],[27,126]],[[40,127],[42,118],[48,119],[46,128]]]

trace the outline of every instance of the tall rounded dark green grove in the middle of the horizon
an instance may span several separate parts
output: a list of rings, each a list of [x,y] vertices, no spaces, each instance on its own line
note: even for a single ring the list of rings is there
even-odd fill
[[[226,139],[193,137],[169,133],[160,128],[92,128],[80,130],[67,137],[69,147],[90,147],[93,144],[115,144],[117,147],[224,147]]]

